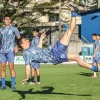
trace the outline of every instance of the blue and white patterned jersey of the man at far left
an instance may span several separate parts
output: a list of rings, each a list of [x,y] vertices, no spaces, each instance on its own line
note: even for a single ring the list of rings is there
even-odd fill
[[[20,36],[16,27],[10,25],[8,28],[2,27],[0,29],[1,52],[8,53],[14,51],[15,36]]]

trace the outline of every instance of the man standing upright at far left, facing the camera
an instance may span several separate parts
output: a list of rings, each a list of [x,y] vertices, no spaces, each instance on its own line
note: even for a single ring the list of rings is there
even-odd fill
[[[8,62],[8,66],[10,69],[11,75],[11,90],[15,90],[15,79],[16,73],[14,70],[14,42],[15,36],[19,39],[20,34],[16,27],[11,25],[11,18],[9,15],[5,15],[3,18],[4,26],[0,29],[0,38],[1,38],[1,81],[2,86],[0,90],[6,89],[6,63]]]

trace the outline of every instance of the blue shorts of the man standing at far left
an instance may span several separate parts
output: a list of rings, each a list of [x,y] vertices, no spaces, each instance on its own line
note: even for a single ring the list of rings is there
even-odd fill
[[[2,63],[7,63],[7,62],[10,62],[10,63],[14,63],[14,52],[8,52],[8,53],[0,53],[0,56],[1,56],[1,62]]]

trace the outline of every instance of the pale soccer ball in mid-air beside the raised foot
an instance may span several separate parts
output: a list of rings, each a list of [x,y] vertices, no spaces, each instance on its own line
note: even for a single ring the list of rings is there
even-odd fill
[[[71,20],[71,13],[69,10],[62,9],[60,14],[60,19],[62,22],[69,22]]]

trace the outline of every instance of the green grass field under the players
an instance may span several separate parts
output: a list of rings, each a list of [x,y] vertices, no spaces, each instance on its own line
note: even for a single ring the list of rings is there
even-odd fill
[[[7,89],[0,91],[0,100],[100,100],[100,76],[78,65],[41,65],[40,85],[21,85],[25,78],[23,65],[16,65],[16,91],[10,90],[7,67]],[[99,74],[99,73],[98,73]]]

